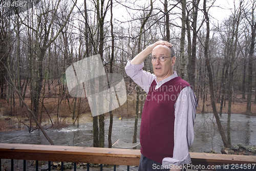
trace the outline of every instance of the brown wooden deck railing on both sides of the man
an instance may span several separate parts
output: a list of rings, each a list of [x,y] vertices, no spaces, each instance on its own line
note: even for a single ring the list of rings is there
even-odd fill
[[[256,164],[256,156],[190,153],[191,165],[212,170],[216,165]],[[138,166],[139,149],[0,143],[0,159],[101,163]],[[256,168],[256,166],[255,166]],[[193,169],[193,168],[192,168]]]

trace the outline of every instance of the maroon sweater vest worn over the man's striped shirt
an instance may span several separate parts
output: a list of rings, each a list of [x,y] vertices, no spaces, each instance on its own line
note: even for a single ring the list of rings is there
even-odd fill
[[[146,96],[140,126],[141,154],[162,163],[163,158],[173,157],[174,105],[180,91],[190,86],[181,77],[175,77],[157,90],[156,81]]]

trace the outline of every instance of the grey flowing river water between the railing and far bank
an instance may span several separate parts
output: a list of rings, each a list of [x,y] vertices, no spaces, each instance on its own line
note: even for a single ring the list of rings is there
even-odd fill
[[[105,147],[108,147],[109,118],[105,117]],[[82,118],[81,118],[82,119]],[[220,116],[223,129],[227,130],[227,114]],[[17,125],[18,126],[18,125]],[[138,122],[138,138],[140,131],[140,120]],[[48,129],[46,132],[54,141],[55,145],[71,146],[93,146],[93,124],[92,122],[68,125],[60,129]],[[213,114],[197,114],[195,119],[195,140],[190,152],[208,152],[214,149],[220,153],[223,142]],[[112,130],[112,143],[118,139],[132,143],[134,134],[134,119],[119,119],[114,117]],[[256,116],[241,114],[231,115],[231,142],[232,145],[243,143],[244,145],[256,145]],[[21,144],[49,144],[41,131],[28,129],[0,133],[0,143]],[[137,146],[137,149],[140,145]],[[105,169],[104,169],[105,170]],[[113,170],[113,169],[112,169]],[[126,170],[126,167],[118,170]],[[132,167],[130,170],[137,170]]]

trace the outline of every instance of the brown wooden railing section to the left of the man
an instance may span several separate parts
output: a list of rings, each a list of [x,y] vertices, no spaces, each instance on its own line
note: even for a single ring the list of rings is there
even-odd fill
[[[0,143],[0,158],[139,165],[138,149]]]

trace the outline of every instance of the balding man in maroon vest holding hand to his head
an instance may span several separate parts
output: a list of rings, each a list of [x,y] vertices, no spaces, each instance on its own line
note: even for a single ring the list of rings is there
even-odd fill
[[[143,71],[152,53],[155,74]],[[191,163],[197,100],[191,86],[173,71],[173,46],[159,40],[127,62],[126,74],[147,93],[140,127],[139,171],[180,170]]]

